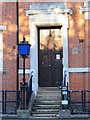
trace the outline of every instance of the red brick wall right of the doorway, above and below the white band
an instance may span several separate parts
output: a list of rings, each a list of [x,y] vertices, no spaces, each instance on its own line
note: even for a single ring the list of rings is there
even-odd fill
[[[68,7],[73,9],[73,14],[69,15],[69,67],[79,68],[89,66],[89,42],[88,42],[88,22],[85,21],[84,14],[79,9],[83,2],[68,3]],[[83,41],[83,42],[82,42]],[[72,52],[72,50],[77,52]],[[78,51],[80,49],[80,51]],[[89,89],[88,73],[70,73],[70,89]]]

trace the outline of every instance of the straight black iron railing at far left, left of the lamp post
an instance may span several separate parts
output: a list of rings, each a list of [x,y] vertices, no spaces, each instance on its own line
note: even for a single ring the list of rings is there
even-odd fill
[[[17,99],[19,91],[2,90],[0,91],[0,106],[3,114],[16,114],[19,107]]]

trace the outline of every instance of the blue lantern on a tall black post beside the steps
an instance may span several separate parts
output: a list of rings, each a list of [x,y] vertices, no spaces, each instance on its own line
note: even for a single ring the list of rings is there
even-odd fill
[[[22,85],[21,85],[21,89],[22,89],[22,93],[23,93],[23,97],[22,97],[22,108],[25,109],[26,106],[26,102],[25,102],[25,90],[27,88],[27,83],[25,80],[25,59],[29,56],[30,53],[30,44],[25,41],[25,37],[23,36],[23,41],[21,41],[18,44],[18,53],[20,54],[20,56],[23,58],[23,81],[22,81]]]

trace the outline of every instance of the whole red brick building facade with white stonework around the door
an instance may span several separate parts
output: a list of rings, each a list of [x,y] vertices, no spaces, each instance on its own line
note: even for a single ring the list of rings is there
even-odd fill
[[[33,4],[37,6],[38,3],[41,7],[43,4],[46,5],[49,3],[49,5],[46,6],[47,8],[45,8],[46,10],[43,10],[44,13],[39,11],[42,10],[42,8],[34,9],[32,7]],[[37,61],[38,50],[36,50],[36,46],[38,43],[36,43],[37,45],[35,44],[36,46],[33,46],[33,42],[35,42],[34,40],[37,39],[36,36],[38,35],[35,34],[37,32],[36,28],[43,26],[58,27],[60,25],[64,26],[62,39],[66,41],[63,42],[63,77],[66,71],[66,80],[71,90],[90,89],[89,2],[67,2],[64,3],[63,8],[61,7],[59,10],[56,9],[57,4],[53,7],[55,3],[61,4],[60,1],[45,1],[44,3],[43,1],[35,1],[35,3],[34,1],[19,2],[18,18],[16,2],[0,3],[2,17],[0,21],[1,89],[16,90],[17,84],[20,86],[20,82],[22,81],[22,58],[19,57],[19,82],[17,83],[17,43],[19,43],[23,35],[25,35],[26,40],[32,45],[30,58],[26,60],[26,80],[30,78],[31,68],[31,70],[34,71],[33,90],[37,92],[39,86],[37,80],[39,63]],[[49,7],[51,7],[51,11],[47,10]],[[44,18],[41,19],[42,16]],[[46,19],[45,17],[48,18]],[[59,20],[59,18],[61,18],[61,20]],[[17,41],[17,19],[19,21],[19,41]],[[53,22],[54,20],[56,20],[56,22]],[[66,21],[66,23],[64,23],[64,21]]]

